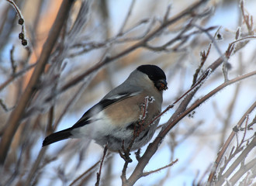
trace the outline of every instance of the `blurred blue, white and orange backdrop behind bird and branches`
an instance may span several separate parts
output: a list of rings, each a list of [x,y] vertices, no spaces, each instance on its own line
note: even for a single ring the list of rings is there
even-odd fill
[[[9,115],[22,98],[62,1],[14,2],[22,13],[23,25],[18,24],[19,16],[11,3],[0,2],[1,136],[9,127]],[[164,109],[189,90],[193,75],[202,62],[202,51],[207,53],[213,38],[215,40],[199,69],[199,75],[226,52],[230,43],[254,35],[254,0],[210,0],[170,26],[165,26],[146,45],[117,57],[164,26],[164,21],[181,14],[193,2],[196,1],[75,1],[40,77],[39,91],[29,102],[13,136],[1,170],[0,184],[94,185],[99,166],[93,165],[101,160],[102,147],[88,140],[64,140],[42,149],[47,133],[72,126],[88,108],[125,81],[130,72],[141,64],[156,64],[167,74],[168,91],[164,91]],[[22,46],[19,33],[24,33],[26,46]],[[243,40],[239,44],[228,60],[229,79],[256,69],[256,41]],[[106,57],[116,58],[89,76],[84,75]],[[221,66],[207,78],[191,105],[223,82]],[[255,102],[255,92],[255,77],[249,77],[224,88],[196,108],[164,138],[145,171],[164,167],[176,158],[178,163],[140,178],[135,185],[204,185],[221,146],[244,112]],[[178,104],[161,117],[160,125],[170,119],[177,107]],[[254,109],[243,125],[254,123],[255,114]],[[156,135],[159,132],[160,129]],[[227,159],[232,146],[243,140],[243,144],[249,143],[254,133],[253,125],[246,133],[237,132],[236,140],[232,141],[225,155]],[[142,148],[142,153],[146,147]],[[256,150],[251,150],[245,162],[254,160],[255,154]],[[233,159],[230,157],[230,164],[239,153],[235,155]],[[133,153],[131,158],[133,163],[129,164],[128,174],[137,165]],[[230,164],[226,163],[222,161],[228,169]],[[123,164],[118,153],[110,153],[102,169],[101,185],[121,185]],[[248,171],[240,177],[237,185],[256,184],[255,170],[254,166],[251,173]],[[81,174],[84,174],[83,177],[79,177]]]

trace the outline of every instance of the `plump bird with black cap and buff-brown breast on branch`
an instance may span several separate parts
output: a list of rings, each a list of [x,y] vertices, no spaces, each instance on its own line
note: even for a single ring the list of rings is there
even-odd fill
[[[81,138],[94,140],[112,151],[129,146],[130,150],[139,150],[157,129],[163,91],[167,89],[166,75],[160,67],[140,65],[126,81],[89,108],[74,126],[47,136],[43,146]]]

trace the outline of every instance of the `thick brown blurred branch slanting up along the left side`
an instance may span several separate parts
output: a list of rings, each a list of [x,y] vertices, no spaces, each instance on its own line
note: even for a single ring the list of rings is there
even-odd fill
[[[22,119],[22,114],[26,110],[26,105],[29,100],[31,100],[32,96],[36,92],[36,84],[38,83],[41,74],[43,73],[44,67],[47,64],[47,61],[50,57],[50,53],[54,48],[54,44],[57,41],[59,34],[61,33],[61,28],[63,26],[64,21],[67,19],[67,15],[74,1],[64,1],[61,5],[61,9],[57,15],[56,21],[50,30],[49,37],[43,47],[43,51],[40,55],[40,59],[38,60],[35,70],[33,71],[33,75],[29,81],[29,84],[26,87],[26,90],[22,94],[22,98],[19,100],[16,108],[12,111],[12,115],[9,117],[8,125],[9,127],[5,130],[4,135],[2,136],[2,140],[0,142],[0,163],[4,164],[5,157],[9,151],[9,146],[12,143],[12,137],[16,133],[16,130],[19,127],[19,123]],[[61,20],[61,21],[60,21]]]

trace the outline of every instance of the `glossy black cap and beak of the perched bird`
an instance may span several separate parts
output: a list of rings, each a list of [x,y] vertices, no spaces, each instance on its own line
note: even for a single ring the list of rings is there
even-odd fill
[[[147,74],[150,80],[154,82],[154,86],[159,91],[165,91],[166,89],[168,89],[166,75],[160,67],[152,64],[144,64],[140,67],[137,67],[137,70],[143,72],[144,74]]]

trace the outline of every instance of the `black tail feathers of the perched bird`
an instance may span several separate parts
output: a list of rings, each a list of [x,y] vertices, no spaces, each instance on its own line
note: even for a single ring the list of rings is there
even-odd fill
[[[57,133],[52,133],[43,140],[43,146],[50,145],[51,143],[55,143],[57,141],[66,140],[70,136],[72,136],[71,128],[61,130]]]

